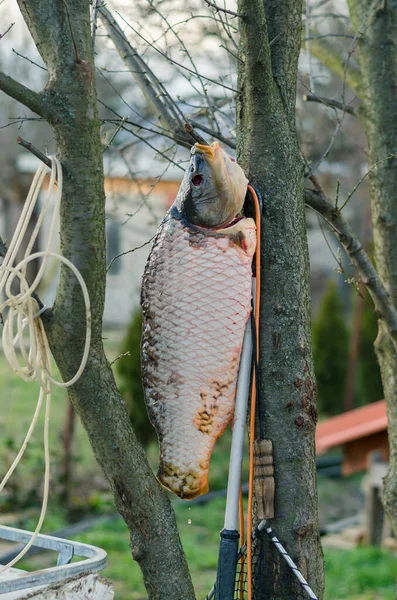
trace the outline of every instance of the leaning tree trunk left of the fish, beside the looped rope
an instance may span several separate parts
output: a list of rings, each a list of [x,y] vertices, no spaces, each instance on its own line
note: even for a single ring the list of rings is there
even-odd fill
[[[129,528],[149,598],[190,600],[195,596],[171,504],[136,440],[103,350],[105,195],[89,1],[18,3],[49,71],[40,97],[63,166],[61,248],[83,275],[91,300],[89,360],[69,397]],[[79,285],[65,268],[46,329],[61,375],[69,379],[82,356],[85,309]]]

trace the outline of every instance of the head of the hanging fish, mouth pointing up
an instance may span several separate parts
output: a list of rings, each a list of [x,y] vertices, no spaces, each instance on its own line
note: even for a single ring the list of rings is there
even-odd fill
[[[241,211],[247,185],[244,171],[219,142],[195,144],[177,206],[193,225],[224,227]]]

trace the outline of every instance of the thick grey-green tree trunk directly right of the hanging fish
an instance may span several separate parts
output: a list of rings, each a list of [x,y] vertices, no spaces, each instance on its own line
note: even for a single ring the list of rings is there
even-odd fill
[[[321,598],[304,168],[295,131],[302,3],[239,0],[238,5],[245,16],[238,159],[263,196],[261,399],[265,438],[273,442],[276,480],[275,519],[270,525]],[[267,540],[262,553],[266,567],[258,574],[255,599],[304,598],[289,567]]]

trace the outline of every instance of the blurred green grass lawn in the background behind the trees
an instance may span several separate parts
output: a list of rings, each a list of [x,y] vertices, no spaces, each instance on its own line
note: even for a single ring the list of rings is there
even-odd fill
[[[117,339],[107,340],[109,358],[118,354]],[[37,399],[37,387],[25,384],[10,374],[8,366],[0,358],[2,393],[0,403],[0,457],[2,465],[7,465],[15,453],[17,444],[29,426]],[[53,461],[54,492],[49,503],[44,532],[52,532],[66,524],[65,512],[59,507],[56,492],[56,468],[60,440],[66,410],[65,392],[56,388],[53,394],[50,445]],[[32,439],[32,448],[11,479],[11,489],[25,493],[32,487],[40,489],[42,462],[42,419]],[[226,485],[228,471],[228,449],[230,432],[217,443],[210,470],[211,489],[222,489]],[[103,491],[103,479],[95,463],[85,433],[78,424],[75,438],[75,478],[76,486],[73,502],[81,503],[81,511],[103,515],[112,510],[110,495]],[[153,466],[157,460],[156,448],[150,451]],[[247,464],[244,465],[246,473]],[[85,483],[85,485],[84,485]],[[357,510],[355,490],[357,481],[347,478],[343,481],[319,478],[320,516],[326,522],[346,516],[343,511],[353,514]],[[87,491],[87,489],[89,491]],[[348,497],[346,493],[349,492]],[[36,490],[37,491],[37,490]],[[15,492],[16,493],[16,492]],[[29,496],[25,497],[29,505]],[[37,501],[37,499],[36,499]],[[189,504],[177,498],[172,499],[181,533],[183,546],[190,565],[197,598],[204,598],[213,585],[216,572],[219,530],[223,526],[224,499],[216,499],[206,505]],[[0,510],[1,510],[0,498]],[[9,508],[8,508],[9,510]],[[33,514],[22,521],[26,528],[34,528],[37,506]],[[1,519],[0,519],[1,520]],[[116,600],[143,600],[147,596],[138,566],[131,560],[129,538],[126,526],[121,519],[101,520],[85,533],[74,539],[94,544],[108,552],[108,567],[104,575],[113,580]],[[38,569],[48,565],[48,557],[35,557],[26,560],[21,567]],[[326,595],[325,600],[392,600],[397,562],[391,553],[376,548],[361,547],[351,552],[325,550]]]

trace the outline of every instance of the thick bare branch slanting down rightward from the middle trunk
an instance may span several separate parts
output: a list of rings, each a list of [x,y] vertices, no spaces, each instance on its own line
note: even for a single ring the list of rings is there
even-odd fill
[[[327,198],[317,178],[312,175],[310,179],[316,189],[305,188],[304,198],[306,204],[318,212],[331,226],[336,237],[350,257],[352,264],[357,269],[362,282],[367,286],[368,292],[374,301],[376,313],[385,323],[393,344],[397,349],[397,310],[385,286],[361,243],[347,221],[343,218],[340,210]]]

